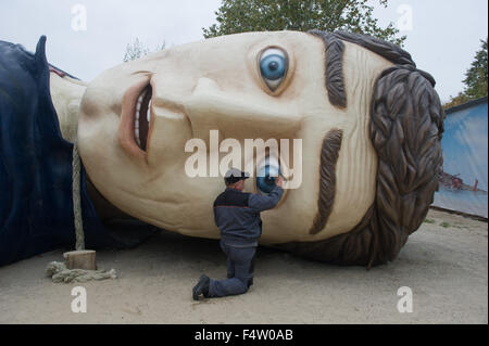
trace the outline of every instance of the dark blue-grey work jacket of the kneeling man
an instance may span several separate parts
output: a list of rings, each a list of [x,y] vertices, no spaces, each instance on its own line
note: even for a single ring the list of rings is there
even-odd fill
[[[221,239],[228,245],[256,246],[262,235],[260,212],[275,207],[283,194],[280,187],[275,187],[268,195],[227,188],[214,202],[214,219]]]

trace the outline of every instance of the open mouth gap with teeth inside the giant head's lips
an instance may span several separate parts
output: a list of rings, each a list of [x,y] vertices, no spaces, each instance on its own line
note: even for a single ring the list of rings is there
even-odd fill
[[[138,98],[134,114],[134,139],[139,149],[146,151],[148,144],[149,124],[151,120],[151,97],[153,90],[146,87]]]

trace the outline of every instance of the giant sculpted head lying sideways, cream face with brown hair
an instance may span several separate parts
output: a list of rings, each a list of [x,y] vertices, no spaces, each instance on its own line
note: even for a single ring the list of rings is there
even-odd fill
[[[327,253],[324,246],[335,243],[325,257],[349,262],[339,257],[355,257],[351,249],[339,252],[356,234],[353,243],[365,248],[350,262],[391,259],[408,235],[392,244],[368,225],[393,225],[402,234],[419,226],[441,163],[438,152],[423,150],[439,146],[442,111],[430,77],[409,54],[383,42],[385,53],[379,42],[346,34],[240,34],[109,69],[88,86],[80,107],[78,146],[89,178],[140,220],[217,239],[212,202],[223,178],[187,175],[187,141],[203,140],[210,156],[211,130],[242,148],[246,139],[302,139],[301,184],[262,214],[261,242],[302,253],[317,253],[317,244]],[[262,158],[254,157],[258,165]],[[242,164],[250,159],[243,155]],[[419,192],[422,185],[429,189]],[[247,190],[259,192],[255,178]],[[389,254],[375,257],[375,246]]]

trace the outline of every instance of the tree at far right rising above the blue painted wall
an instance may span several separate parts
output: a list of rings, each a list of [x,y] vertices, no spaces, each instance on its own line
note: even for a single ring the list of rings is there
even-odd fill
[[[448,110],[471,100],[487,97],[487,38],[485,41],[480,40],[480,42],[482,43],[481,48],[476,52],[471,67],[465,73],[465,79],[462,80],[465,85],[465,90],[459,92],[454,98],[450,97],[450,101],[443,104],[443,108]]]

